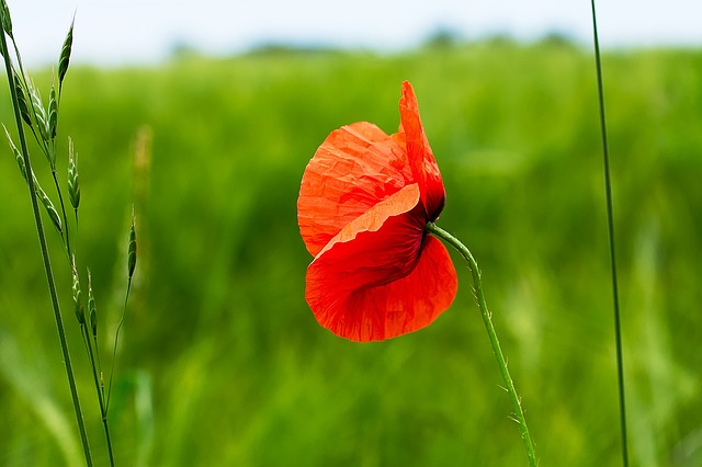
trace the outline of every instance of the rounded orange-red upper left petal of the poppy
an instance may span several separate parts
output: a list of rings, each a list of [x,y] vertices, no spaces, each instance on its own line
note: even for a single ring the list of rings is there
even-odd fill
[[[411,183],[403,148],[360,122],[332,132],[303,175],[297,221],[307,250],[319,251],[349,223]]]

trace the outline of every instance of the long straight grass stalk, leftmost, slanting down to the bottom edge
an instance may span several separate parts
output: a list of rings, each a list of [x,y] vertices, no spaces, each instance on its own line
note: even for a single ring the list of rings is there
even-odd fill
[[[80,440],[83,446],[83,453],[86,455],[86,464],[91,467],[92,466],[92,456],[90,454],[90,446],[88,444],[88,434],[86,432],[86,423],[83,421],[82,411],[80,409],[80,400],[78,397],[78,389],[76,387],[76,378],[73,376],[73,369],[70,362],[70,354],[68,352],[68,342],[66,341],[66,331],[64,329],[64,319],[61,317],[61,311],[58,304],[58,294],[56,292],[56,283],[54,281],[54,272],[52,270],[52,263],[48,255],[48,247],[46,244],[46,236],[44,235],[44,227],[42,225],[42,216],[39,213],[38,203],[36,200],[36,193],[34,191],[34,180],[32,175],[32,164],[30,161],[30,152],[26,147],[26,139],[24,136],[24,130],[22,126],[22,117],[20,114],[20,107],[18,102],[18,94],[14,89],[14,71],[12,70],[12,64],[10,62],[10,54],[8,52],[8,43],[5,39],[4,32],[0,32],[0,47],[2,52],[2,56],[4,58],[5,71],[8,75],[8,81],[10,83],[10,94],[12,96],[12,106],[14,110],[14,118],[18,126],[18,136],[20,139],[20,146],[22,150],[22,157],[24,159],[24,166],[26,168],[27,173],[27,186],[30,190],[30,200],[32,202],[32,210],[34,213],[34,221],[36,225],[36,231],[39,240],[39,248],[42,250],[42,260],[44,263],[44,270],[46,273],[46,281],[48,283],[49,296],[52,299],[52,306],[54,308],[54,318],[56,321],[56,329],[58,332],[58,340],[61,346],[61,353],[64,357],[64,364],[66,366],[66,375],[68,377],[68,386],[70,388],[71,399],[73,402],[73,409],[76,412],[76,420],[78,422],[78,430],[80,431]]]

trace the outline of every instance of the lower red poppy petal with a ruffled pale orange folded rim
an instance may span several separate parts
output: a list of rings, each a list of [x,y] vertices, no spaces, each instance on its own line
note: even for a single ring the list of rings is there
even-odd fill
[[[353,341],[417,331],[449,308],[457,278],[445,247],[423,235],[416,184],[347,226],[307,269],[317,321]]]

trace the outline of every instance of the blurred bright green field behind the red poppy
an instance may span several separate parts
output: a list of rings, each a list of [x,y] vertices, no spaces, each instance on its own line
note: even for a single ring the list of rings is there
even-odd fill
[[[702,466],[702,52],[611,52],[603,66],[631,456]],[[395,132],[404,79],[446,185],[439,225],[484,271],[541,465],[621,465],[593,59],[557,41],[69,70],[59,132],[79,153],[78,249],[103,364],[133,202],[137,213],[111,405],[117,465],[526,465],[457,254],[453,307],[396,340],[338,339],[304,300],[305,164],[343,124]],[[48,72],[35,80],[47,89]],[[7,90],[0,121],[13,124]],[[150,138],[147,163],[135,162],[137,135]],[[80,465],[26,187],[1,152],[0,464]],[[54,253],[91,446],[106,465]]]

